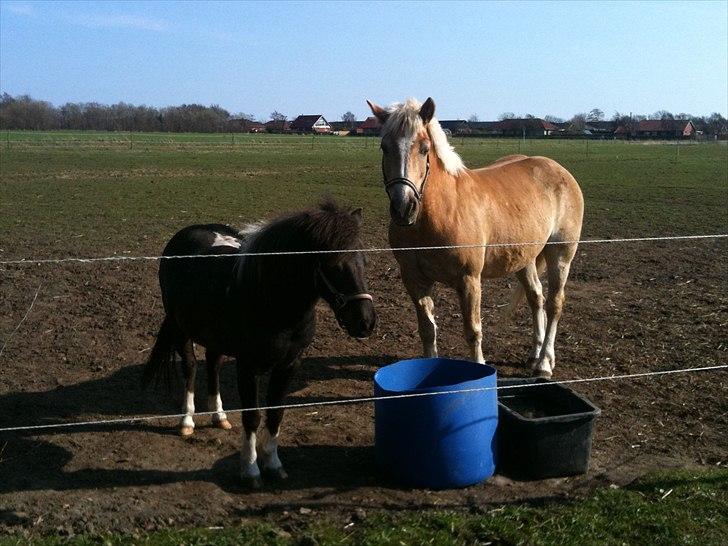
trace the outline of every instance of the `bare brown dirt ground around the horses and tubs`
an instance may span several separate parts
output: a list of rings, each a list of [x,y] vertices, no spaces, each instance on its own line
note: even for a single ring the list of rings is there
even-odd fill
[[[556,379],[628,374],[728,362],[725,241],[584,245],[567,285]],[[348,339],[330,310],[289,402],[368,396],[384,364],[419,354],[413,308],[395,262],[375,255],[370,288],[380,325]],[[0,357],[0,427],[177,413],[180,394],[139,387],[162,318],[156,264],[24,265],[0,270],[3,331],[28,320]],[[53,282],[46,282],[52,278]],[[525,308],[500,324],[507,281],[484,290],[484,352],[501,376],[526,375]],[[456,298],[436,298],[443,356],[462,356]],[[12,318],[12,320],[11,320]],[[12,322],[12,324],[11,324]],[[205,408],[204,366],[198,408]],[[239,406],[234,366],[223,401]],[[497,476],[461,490],[403,489],[373,458],[371,404],[287,412],[281,459],[290,478],[259,492],[238,481],[240,416],[232,431],[198,418],[190,438],[175,421],[0,433],[0,532],[79,532],[221,525],[261,514],[387,508],[479,509],[493,503],[560,500],[623,485],[668,467],[726,465],[728,375],[724,371],[578,384],[602,410],[591,469],[573,478],[518,482]],[[304,510],[304,512],[308,513]]]

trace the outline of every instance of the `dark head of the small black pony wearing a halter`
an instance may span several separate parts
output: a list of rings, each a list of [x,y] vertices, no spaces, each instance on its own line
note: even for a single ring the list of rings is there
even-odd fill
[[[336,320],[356,338],[372,335],[377,313],[368,293],[364,255],[346,252],[333,261],[323,261],[316,273],[321,297],[334,311]]]

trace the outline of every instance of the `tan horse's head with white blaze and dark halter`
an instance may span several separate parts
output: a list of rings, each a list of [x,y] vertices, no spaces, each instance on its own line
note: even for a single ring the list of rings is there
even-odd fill
[[[382,123],[382,174],[390,217],[399,226],[411,226],[422,209],[432,146],[427,124],[435,103],[430,98],[415,109],[408,102],[393,112],[367,103]]]

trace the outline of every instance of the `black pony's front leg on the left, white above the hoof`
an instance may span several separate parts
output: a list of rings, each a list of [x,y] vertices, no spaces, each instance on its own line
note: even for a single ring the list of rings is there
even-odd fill
[[[243,411],[243,445],[240,448],[240,477],[243,483],[252,488],[260,489],[263,482],[258,468],[256,439],[260,426],[260,411],[258,408],[258,376],[245,367],[241,359],[237,359],[238,392],[243,408],[256,408]]]

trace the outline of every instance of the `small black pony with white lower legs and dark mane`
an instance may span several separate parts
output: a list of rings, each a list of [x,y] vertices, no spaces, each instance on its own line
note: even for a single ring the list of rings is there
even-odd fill
[[[189,226],[164,249],[164,256],[220,255],[162,260],[159,283],[166,316],[145,370],[147,382],[169,377],[174,353],[182,357],[186,396],[180,433],[195,423],[194,345],[206,348],[208,409],[213,424],[229,429],[222,407],[219,370],[223,355],[235,357],[244,408],[258,407],[259,375],[270,372],[268,405],[281,404],[293,371],[315,331],[316,302],[323,298],[351,336],[371,335],[376,322],[367,293],[359,248],[361,209],[324,203],[238,232],[220,224]],[[323,251],[323,253],[320,253]],[[339,252],[342,251],[342,252]],[[243,253],[309,252],[299,255],[229,256]],[[285,478],[278,458],[283,410],[268,410],[261,438],[260,411],[243,413],[241,476],[258,488],[263,471]],[[259,456],[259,457],[258,457]]]

